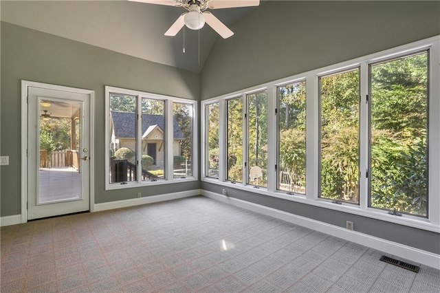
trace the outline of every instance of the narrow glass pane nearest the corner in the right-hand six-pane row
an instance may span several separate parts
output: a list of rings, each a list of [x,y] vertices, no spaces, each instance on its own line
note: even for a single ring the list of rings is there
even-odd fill
[[[206,176],[219,178],[219,103],[206,105]]]

